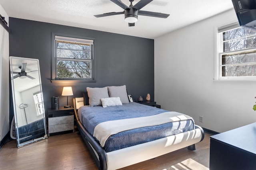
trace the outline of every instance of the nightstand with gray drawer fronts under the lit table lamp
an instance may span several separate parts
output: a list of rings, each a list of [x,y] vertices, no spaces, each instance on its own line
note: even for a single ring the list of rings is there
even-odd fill
[[[48,109],[48,135],[74,132],[74,108]]]

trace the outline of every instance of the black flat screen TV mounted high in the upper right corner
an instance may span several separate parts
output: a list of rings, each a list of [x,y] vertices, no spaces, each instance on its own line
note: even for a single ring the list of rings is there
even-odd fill
[[[256,30],[256,0],[232,0],[242,27]]]

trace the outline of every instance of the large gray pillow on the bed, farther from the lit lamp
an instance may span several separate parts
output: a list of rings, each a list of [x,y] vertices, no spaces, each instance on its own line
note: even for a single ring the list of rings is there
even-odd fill
[[[122,104],[128,104],[128,94],[126,91],[126,85],[123,86],[108,86],[108,94],[110,98],[120,97]]]

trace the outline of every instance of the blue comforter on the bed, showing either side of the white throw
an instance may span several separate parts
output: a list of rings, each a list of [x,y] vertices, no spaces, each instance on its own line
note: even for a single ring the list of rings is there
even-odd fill
[[[78,116],[87,131],[93,135],[94,128],[104,121],[144,117],[164,113],[166,110],[131,102],[122,106],[80,107]],[[175,135],[194,129],[193,119],[165,123],[157,126],[142,127],[111,135],[104,146],[106,152],[111,152],[141,143],[154,141],[170,135]]]

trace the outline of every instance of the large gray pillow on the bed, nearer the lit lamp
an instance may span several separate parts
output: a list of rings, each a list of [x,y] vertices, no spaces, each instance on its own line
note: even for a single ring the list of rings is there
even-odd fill
[[[101,98],[109,98],[108,87],[103,88],[86,88],[89,97],[89,106],[101,106]]]

